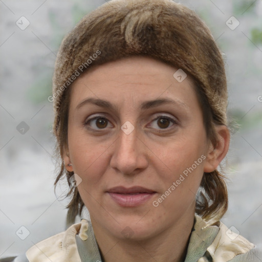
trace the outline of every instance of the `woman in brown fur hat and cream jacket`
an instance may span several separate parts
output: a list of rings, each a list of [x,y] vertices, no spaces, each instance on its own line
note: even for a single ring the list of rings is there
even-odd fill
[[[62,41],[53,76],[55,184],[65,232],[33,261],[261,261],[220,222],[229,147],[223,57],[203,21],[169,0],[113,0]]]

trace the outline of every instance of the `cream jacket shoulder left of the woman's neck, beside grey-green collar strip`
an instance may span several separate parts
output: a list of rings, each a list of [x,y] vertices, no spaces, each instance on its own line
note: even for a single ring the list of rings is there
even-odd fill
[[[62,262],[68,261],[70,258],[74,262],[81,262],[75,237],[76,234],[81,234],[81,231],[86,231],[87,228],[88,224],[85,220],[82,220],[81,223],[72,225],[66,231],[35,244],[26,252],[28,261],[50,262],[51,260],[53,262]]]

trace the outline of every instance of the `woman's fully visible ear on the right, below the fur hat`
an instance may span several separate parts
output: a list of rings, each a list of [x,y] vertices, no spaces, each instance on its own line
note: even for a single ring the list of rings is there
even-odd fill
[[[210,173],[214,171],[220,162],[224,159],[229,148],[230,132],[226,125],[215,126],[217,134],[217,143],[213,145],[210,142],[207,158],[204,164],[204,172]]]

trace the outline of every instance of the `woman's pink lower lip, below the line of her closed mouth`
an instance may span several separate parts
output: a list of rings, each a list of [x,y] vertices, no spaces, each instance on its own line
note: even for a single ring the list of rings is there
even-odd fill
[[[108,192],[108,194],[119,206],[136,207],[147,202],[153,195],[155,195],[155,192],[139,194],[120,194]]]

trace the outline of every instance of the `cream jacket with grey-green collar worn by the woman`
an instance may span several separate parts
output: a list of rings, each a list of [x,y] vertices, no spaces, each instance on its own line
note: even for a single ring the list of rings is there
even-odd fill
[[[14,262],[101,262],[90,220],[32,246],[24,258]],[[222,222],[208,225],[195,215],[185,262],[261,262],[262,252]]]

